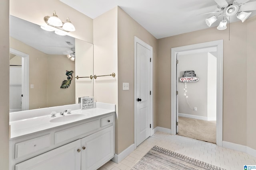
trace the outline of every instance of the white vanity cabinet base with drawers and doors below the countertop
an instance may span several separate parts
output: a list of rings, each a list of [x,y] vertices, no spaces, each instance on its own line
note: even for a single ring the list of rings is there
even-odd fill
[[[10,143],[10,170],[96,170],[114,157],[114,112]]]

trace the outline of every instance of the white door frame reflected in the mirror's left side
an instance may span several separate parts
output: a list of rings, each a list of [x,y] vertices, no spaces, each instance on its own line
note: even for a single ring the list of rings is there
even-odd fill
[[[22,57],[22,111],[29,109],[29,55],[10,48],[10,53]]]

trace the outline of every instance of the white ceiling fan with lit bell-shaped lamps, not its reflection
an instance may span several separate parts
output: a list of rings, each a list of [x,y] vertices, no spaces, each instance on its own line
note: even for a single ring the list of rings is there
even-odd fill
[[[230,20],[230,17],[236,16],[236,18],[244,22],[250,16],[250,14],[252,14],[252,12],[248,11],[256,10],[256,1],[248,2],[249,0],[234,0],[231,4],[229,4],[226,0],[214,1],[217,3],[218,10],[204,14],[217,14],[211,18],[207,18],[205,22],[210,27],[218,18],[223,17],[223,20],[220,21],[220,24],[217,27],[219,30],[224,30],[227,28],[227,20]]]

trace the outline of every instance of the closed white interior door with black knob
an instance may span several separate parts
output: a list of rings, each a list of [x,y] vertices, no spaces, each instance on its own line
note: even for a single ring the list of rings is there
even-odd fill
[[[150,49],[136,44],[136,144],[150,136]]]

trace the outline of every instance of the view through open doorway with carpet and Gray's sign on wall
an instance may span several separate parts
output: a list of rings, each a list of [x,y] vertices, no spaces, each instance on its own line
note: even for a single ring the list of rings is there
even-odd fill
[[[177,135],[216,144],[217,48],[178,53]]]

